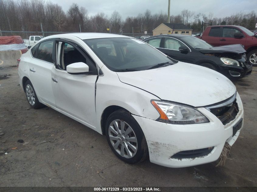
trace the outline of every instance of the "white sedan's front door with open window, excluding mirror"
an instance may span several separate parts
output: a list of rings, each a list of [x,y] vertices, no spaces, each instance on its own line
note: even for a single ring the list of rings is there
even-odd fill
[[[57,63],[52,69],[52,88],[58,109],[75,118],[96,125],[95,83],[96,67],[92,60],[83,54],[82,49],[71,42],[56,42]],[[89,75],[71,75],[66,67],[75,62],[89,66]]]

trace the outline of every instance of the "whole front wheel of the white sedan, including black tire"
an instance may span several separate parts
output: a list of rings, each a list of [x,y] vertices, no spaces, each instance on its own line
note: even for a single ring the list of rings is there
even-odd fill
[[[119,109],[108,117],[105,133],[113,153],[124,162],[134,164],[148,157],[144,133],[126,110]]]

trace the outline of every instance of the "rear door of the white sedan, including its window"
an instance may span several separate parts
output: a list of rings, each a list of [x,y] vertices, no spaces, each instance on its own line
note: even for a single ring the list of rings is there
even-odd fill
[[[54,40],[41,42],[31,49],[29,75],[36,95],[45,103],[55,106],[51,70],[54,67]]]

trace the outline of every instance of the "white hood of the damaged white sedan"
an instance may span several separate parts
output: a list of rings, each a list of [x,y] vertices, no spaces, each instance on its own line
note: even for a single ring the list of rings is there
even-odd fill
[[[162,100],[199,107],[231,97],[234,84],[212,69],[178,62],[171,66],[135,72],[117,72],[121,82],[138,87]]]

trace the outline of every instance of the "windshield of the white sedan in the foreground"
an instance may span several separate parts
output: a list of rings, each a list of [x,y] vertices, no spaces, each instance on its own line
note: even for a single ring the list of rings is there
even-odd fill
[[[146,70],[160,63],[177,62],[138,39],[104,38],[83,41],[112,71]]]

